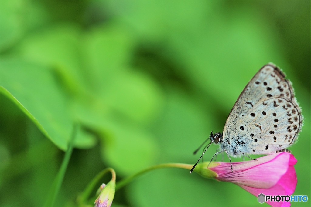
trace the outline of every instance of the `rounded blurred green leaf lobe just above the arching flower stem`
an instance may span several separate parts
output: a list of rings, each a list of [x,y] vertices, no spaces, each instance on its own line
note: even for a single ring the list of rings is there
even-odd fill
[[[152,165],[159,153],[155,137],[117,123],[107,123],[101,145],[102,159],[118,173],[129,175]]]

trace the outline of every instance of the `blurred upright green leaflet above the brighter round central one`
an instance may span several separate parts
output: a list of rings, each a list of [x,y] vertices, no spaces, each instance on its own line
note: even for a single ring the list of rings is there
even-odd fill
[[[101,85],[126,70],[132,58],[136,38],[123,25],[98,26],[84,35],[81,41],[83,58],[92,80]]]

